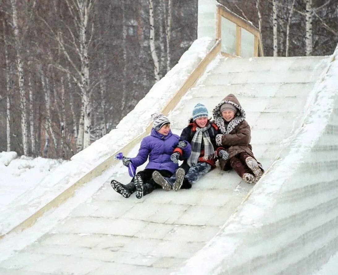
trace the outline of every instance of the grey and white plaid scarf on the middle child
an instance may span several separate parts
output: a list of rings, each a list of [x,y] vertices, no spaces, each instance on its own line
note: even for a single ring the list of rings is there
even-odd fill
[[[198,158],[201,154],[202,141],[204,143],[204,156],[203,160],[213,159],[216,156],[214,146],[211,143],[208,129],[211,124],[203,128],[196,127],[196,133],[191,141],[191,155],[188,158],[188,165],[192,166],[198,162]]]

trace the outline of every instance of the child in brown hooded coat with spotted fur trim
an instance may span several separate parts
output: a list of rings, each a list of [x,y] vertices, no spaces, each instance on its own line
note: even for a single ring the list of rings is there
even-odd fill
[[[227,95],[216,105],[213,116],[221,131],[216,136],[216,143],[224,146],[229,154],[228,160],[219,161],[221,169],[233,168],[246,183],[257,182],[264,170],[252,153],[250,126],[236,96]]]

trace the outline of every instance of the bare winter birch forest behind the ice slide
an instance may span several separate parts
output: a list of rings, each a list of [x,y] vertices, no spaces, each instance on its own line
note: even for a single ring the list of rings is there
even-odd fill
[[[197,38],[197,2],[0,0],[0,152],[69,159],[114,129]],[[338,0],[218,2],[265,56],[337,45]]]

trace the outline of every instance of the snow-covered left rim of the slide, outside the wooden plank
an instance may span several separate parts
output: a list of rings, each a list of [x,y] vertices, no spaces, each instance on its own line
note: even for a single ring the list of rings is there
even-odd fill
[[[116,129],[74,155],[71,161],[56,167],[48,178],[41,180],[44,188],[31,190],[29,196],[19,196],[12,207],[2,213],[2,217],[6,218],[6,224],[2,224],[0,235],[8,232],[52,201],[55,198],[55,191],[51,192],[51,188],[61,194],[107,158],[121,150],[123,146],[144,133],[151,122],[151,114],[165,108],[214,45],[215,40],[208,37],[194,41],[178,63],[151,88],[135,109],[120,121]],[[130,131],[131,125],[133,131]],[[33,205],[33,207],[25,207],[27,205]]]

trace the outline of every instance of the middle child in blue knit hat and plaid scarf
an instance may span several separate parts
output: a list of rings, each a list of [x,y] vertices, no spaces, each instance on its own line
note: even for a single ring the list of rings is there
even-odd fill
[[[183,129],[180,136],[181,140],[190,143],[191,155],[172,177],[154,171],[154,181],[167,191],[171,188],[174,191],[191,188],[193,182],[216,167],[217,156],[227,159],[228,154],[224,148],[216,145],[216,135],[219,133],[217,125],[208,119],[207,108],[198,103],[193,109],[188,127]]]

